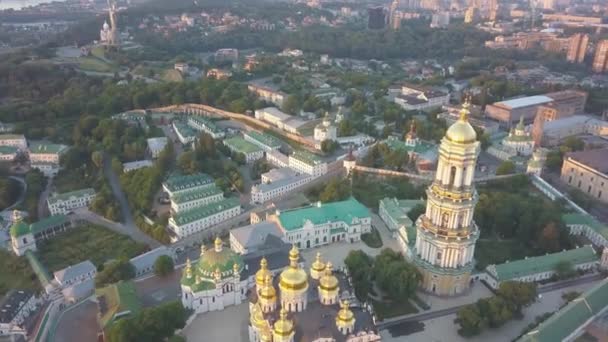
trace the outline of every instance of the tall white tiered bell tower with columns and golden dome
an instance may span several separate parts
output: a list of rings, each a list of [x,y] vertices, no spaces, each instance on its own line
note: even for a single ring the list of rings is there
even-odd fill
[[[412,259],[423,275],[423,290],[437,295],[457,295],[469,287],[479,238],[473,222],[478,200],[473,178],[480,143],[468,115],[466,101],[460,118],[441,140],[426,212],[416,220]]]

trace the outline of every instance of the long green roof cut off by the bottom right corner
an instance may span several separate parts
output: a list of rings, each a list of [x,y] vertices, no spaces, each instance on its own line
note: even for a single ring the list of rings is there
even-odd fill
[[[608,279],[568,303],[518,342],[563,341],[608,306]]]

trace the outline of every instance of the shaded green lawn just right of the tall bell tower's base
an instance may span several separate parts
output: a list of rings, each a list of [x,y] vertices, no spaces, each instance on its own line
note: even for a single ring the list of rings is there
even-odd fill
[[[514,240],[480,239],[475,246],[476,268],[482,270],[490,264],[500,264],[507,260],[519,260],[532,255],[526,246]]]

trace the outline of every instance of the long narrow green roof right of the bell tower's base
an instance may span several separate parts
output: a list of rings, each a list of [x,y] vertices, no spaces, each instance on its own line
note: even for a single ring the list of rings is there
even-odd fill
[[[599,257],[595,254],[595,250],[591,246],[584,246],[563,252],[529,257],[498,265],[490,265],[488,266],[488,271],[492,273],[498,281],[506,281],[537,273],[553,271],[558,263],[564,261],[571,262],[573,265],[579,265],[598,259]]]

